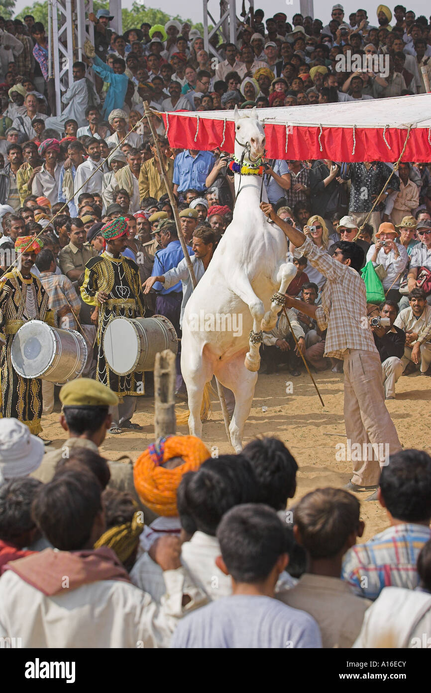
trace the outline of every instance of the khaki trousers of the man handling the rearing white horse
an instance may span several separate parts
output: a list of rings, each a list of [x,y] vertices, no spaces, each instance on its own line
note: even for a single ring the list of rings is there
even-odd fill
[[[378,352],[348,349],[344,356],[345,426],[350,446],[359,444],[363,454],[354,459],[351,482],[358,486],[378,484],[385,459],[378,450],[394,455],[401,450],[396,428],[385,405],[382,365]],[[371,446],[375,444],[374,450]],[[368,447],[367,447],[368,446]],[[379,447],[378,447],[379,446]],[[348,443],[349,449],[349,443]],[[379,457],[382,457],[379,461]]]

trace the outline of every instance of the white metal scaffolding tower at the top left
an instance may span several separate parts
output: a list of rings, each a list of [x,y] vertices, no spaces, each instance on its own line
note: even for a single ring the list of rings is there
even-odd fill
[[[73,82],[73,62],[82,59],[86,39],[94,43],[89,12],[93,0],[48,0],[48,74],[54,79],[57,115],[62,112],[62,94]]]

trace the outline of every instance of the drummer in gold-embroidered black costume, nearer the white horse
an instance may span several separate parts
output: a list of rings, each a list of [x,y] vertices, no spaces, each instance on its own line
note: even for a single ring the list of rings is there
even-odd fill
[[[103,335],[115,317],[144,317],[144,297],[140,286],[138,265],[121,253],[126,247],[127,222],[119,217],[101,229],[106,247],[101,255],[91,258],[85,265],[82,300],[98,306],[98,368],[96,380],[118,394],[120,404],[111,410],[111,433],[122,428],[141,428],[130,419],[136,408],[136,396],[144,394],[144,374],[131,373],[118,376],[107,365],[103,353]],[[127,349],[127,344],[125,344]]]

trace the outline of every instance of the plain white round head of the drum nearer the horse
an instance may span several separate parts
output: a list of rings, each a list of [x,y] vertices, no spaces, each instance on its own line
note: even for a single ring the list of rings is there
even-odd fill
[[[118,376],[134,371],[140,354],[140,341],[130,320],[117,317],[109,323],[103,335],[103,353],[109,368]]]

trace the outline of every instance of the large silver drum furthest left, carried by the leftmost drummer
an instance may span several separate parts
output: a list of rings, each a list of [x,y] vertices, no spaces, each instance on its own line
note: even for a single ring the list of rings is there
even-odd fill
[[[61,385],[82,374],[87,347],[84,337],[75,330],[30,320],[17,331],[11,357],[12,366],[22,378],[43,378]]]

